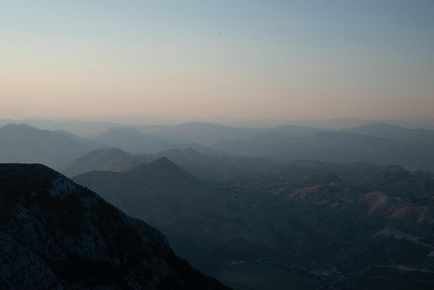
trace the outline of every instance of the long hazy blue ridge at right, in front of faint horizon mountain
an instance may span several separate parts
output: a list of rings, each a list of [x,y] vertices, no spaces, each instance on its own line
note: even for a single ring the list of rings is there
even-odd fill
[[[434,146],[428,143],[409,144],[384,137],[325,131],[307,137],[259,137],[220,141],[212,148],[232,155],[279,162],[372,162],[399,164],[409,170],[434,170]]]

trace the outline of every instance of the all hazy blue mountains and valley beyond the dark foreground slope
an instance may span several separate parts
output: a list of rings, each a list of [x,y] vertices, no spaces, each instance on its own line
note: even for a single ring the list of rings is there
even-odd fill
[[[1,127],[0,161],[52,167],[229,287],[432,286],[434,130],[50,123]]]

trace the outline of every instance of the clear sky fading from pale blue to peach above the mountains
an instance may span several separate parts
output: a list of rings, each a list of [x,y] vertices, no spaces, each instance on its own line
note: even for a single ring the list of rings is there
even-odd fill
[[[434,117],[434,1],[0,0],[0,118]]]

